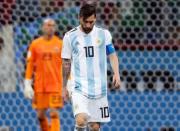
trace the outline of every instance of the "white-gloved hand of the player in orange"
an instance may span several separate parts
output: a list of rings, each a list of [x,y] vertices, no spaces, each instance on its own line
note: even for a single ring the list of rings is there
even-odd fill
[[[32,80],[25,80],[24,81],[24,96],[28,99],[32,99],[34,96],[34,90],[32,88]]]

